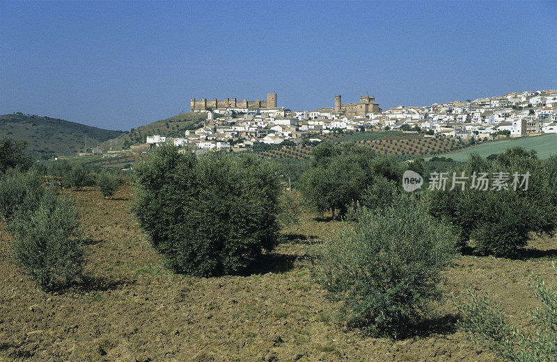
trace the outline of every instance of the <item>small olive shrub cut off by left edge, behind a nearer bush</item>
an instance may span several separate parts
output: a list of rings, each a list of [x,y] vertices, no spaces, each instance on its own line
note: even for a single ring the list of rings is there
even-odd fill
[[[25,200],[28,206],[32,201],[36,204],[45,192],[41,185],[42,179],[35,172],[10,169],[0,175],[0,217],[9,219]]]

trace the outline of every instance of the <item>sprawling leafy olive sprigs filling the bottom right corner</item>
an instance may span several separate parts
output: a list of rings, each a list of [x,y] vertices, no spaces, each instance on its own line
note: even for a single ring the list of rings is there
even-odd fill
[[[557,269],[553,263],[555,277]],[[459,325],[473,334],[476,343],[489,348],[498,359],[512,362],[557,360],[557,286],[549,288],[534,277],[530,283],[541,308],[528,312],[535,331],[517,328],[505,321],[505,313],[489,296],[468,290],[469,300],[458,303]]]

